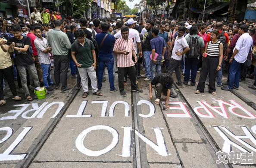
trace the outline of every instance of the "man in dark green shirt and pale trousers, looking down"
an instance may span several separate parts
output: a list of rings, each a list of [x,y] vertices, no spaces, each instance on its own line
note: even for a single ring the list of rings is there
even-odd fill
[[[75,66],[78,67],[78,72],[81,77],[84,94],[83,98],[89,95],[88,92],[88,77],[91,78],[91,86],[93,88],[93,95],[102,96],[98,91],[97,76],[96,76],[96,54],[94,51],[94,44],[91,40],[85,38],[84,30],[75,31],[75,42],[71,46],[72,59]]]

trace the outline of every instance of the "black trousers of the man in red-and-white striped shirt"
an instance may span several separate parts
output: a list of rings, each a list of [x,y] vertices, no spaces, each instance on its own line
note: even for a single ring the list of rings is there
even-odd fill
[[[125,90],[125,85],[124,85],[124,78],[125,74],[129,75],[130,81],[131,81],[131,89],[137,89],[137,84],[136,84],[136,68],[135,66],[129,66],[125,68],[118,68],[118,86],[119,90]]]

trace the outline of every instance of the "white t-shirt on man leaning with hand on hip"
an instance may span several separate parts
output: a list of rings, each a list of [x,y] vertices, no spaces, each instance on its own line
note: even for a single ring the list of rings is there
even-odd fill
[[[184,36],[178,37],[175,39],[174,42],[174,48],[172,50],[172,58],[175,60],[181,60],[182,55],[178,56],[177,54],[175,54],[175,51],[179,51],[182,52],[184,48],[187,48],[188,44],[187,44],[187,40],[185,39]]]

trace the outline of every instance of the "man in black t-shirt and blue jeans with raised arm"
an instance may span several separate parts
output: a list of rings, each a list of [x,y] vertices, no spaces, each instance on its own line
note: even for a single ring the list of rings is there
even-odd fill
[[[155,24],[153,19],[148,19],[147,23],[144,20],[144,17],[142,15],[142,24],[144,27],[146,27],[147,32],[144,33],[144,37],[141,43],[142,51],[143,51],[143,61],[145,63],[145,75],[140,75],[140,77],[145,78],[144,81],[150,81],[151,80],[151,72],[150,72],[150,54],[152,53],[150,40],[153,39],[152,35],[152,28]]]

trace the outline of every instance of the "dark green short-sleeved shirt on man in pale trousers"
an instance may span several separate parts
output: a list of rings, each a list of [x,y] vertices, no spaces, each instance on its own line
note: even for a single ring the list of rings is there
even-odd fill
[[[91,48],[90,48],[90,46],[87,43],[87,40],[88,39],[85,39],[84,46],[81,45],[78,40],[76,41],[78,43],[78,52],[76,54],[76,60],[77,60],[78,63],[82,64],[80,68],[89,68],[94,63],[94,60],[93,60],[93,57],[92,57],[92,54],[91,54],[91,50],[94,50],[94,44],[90,40],[90,42],[91,42]],[[75,50],[75,43],[76,42],[74,42],[71,45],[71,51],[72,52],[76,51]]]

